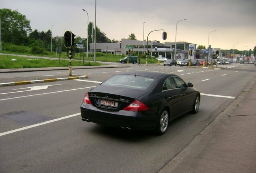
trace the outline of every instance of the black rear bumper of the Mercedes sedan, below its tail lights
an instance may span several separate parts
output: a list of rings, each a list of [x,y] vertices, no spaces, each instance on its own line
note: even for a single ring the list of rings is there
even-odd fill
[[[93,123],[110,127],[128,127],[133,130],[154,130],[157,117],[136,111],[104,111],[83,103],[81,117]]]

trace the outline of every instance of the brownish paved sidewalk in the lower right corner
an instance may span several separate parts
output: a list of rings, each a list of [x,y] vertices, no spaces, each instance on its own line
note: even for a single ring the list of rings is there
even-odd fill
[[[256,82],[159,173],[256,173]]]

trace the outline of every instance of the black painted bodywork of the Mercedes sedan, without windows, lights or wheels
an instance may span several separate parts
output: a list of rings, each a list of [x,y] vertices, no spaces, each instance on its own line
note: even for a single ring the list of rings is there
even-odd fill
[[[200,93],[193,87],[175,88],[162,91],[165,80],[169,77],[178,77],[175,74],[145,71],[128,71],[122,74],[146,75],[155,78],[147,91],[136,89],[128,90],[119,87],[102,87],[101,84],[89,91],[89,99],[92,105],[82,103],[81,116],[91,122],[111,127],[130,127],[134,130],[154,130],[157,119],[164,109],[169,112],[169,120],[172,120],[184,113],[192,111],[194,98]],[[178,77],[179,78],[179,77]],[[96,104],[97,99],[118,101],[118,109],[106,108]],[[121,98],[120,98],[120,95]],[[134,99],[141,101],[150,109],[146,111],[124,111]],[[182,109],[181,109],[182,108]]]

